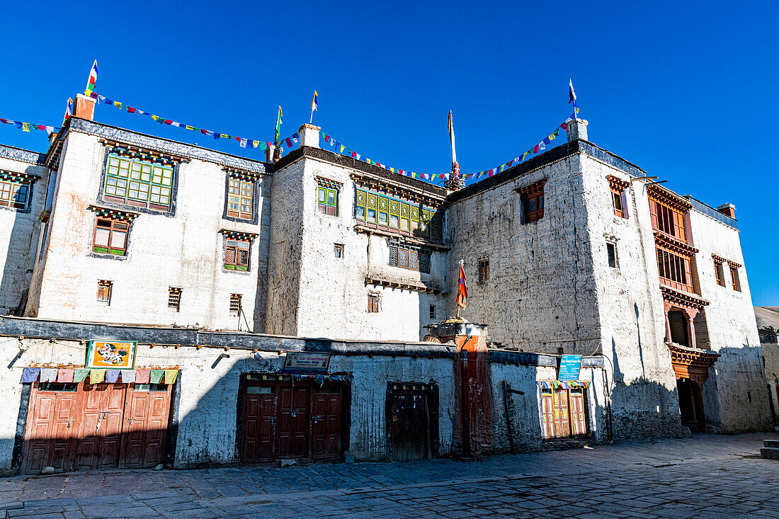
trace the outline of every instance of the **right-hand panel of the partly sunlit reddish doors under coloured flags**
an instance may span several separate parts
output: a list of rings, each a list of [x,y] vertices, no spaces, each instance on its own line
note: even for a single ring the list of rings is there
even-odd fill
[[[145,468],[162,463],[170,411],[170,385],[133,384],[128,387],[122,467]]]

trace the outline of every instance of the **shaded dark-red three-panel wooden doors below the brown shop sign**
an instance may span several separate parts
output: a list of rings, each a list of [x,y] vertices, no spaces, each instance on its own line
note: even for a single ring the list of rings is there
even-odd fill
[[[241,399],[241,461],[325,460],[340,455],[340,387],[249,383]]]

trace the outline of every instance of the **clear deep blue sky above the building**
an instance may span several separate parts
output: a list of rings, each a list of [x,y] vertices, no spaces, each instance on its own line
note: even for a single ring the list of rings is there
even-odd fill
[[[711,206],[734,203],[753,302],[779,305],[777,2],[5,2],[0,118],[59,125],[94,58],[97,91],[133,107],[272,140],[308,120],[398,168],[509,161],[579,95],[590,140]],[[594,5],[597,3],[598,5]],[[108,124],[249,157],[101,105]],[[44,132],[0,142],[45,150]]]

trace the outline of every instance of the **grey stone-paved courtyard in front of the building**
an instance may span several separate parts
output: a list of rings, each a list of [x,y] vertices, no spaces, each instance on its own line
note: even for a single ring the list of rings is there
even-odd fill
[[[763,438],[696,435],[482,461],[85,471],[0,480],[5,517],[779,517]]]

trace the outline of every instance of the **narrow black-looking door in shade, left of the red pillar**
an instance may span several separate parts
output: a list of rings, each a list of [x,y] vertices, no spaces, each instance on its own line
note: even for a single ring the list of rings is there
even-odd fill
[[[419,460],[428,454],[425,394],[390,395],[390,452],[393,460]]]

